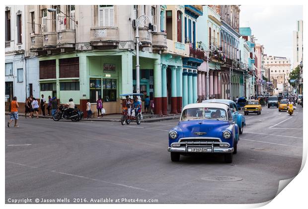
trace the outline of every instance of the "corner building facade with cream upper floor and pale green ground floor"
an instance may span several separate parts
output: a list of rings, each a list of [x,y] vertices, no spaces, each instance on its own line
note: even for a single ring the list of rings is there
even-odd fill
[[[52,9],[54,10],[52,10]],[[120,94],[136,92],[136,23],[139,16],[140,92],[161,112],[161,60],[166,34],[160,5],[27,5],[26,51],[38,58],[40,94],[81,109],[102,98],[119,113]],[[70,17],[66,16],[70,14]],[[148,23],[154,25],[149,30]],[[93,111],[95,105],[93,105]]]

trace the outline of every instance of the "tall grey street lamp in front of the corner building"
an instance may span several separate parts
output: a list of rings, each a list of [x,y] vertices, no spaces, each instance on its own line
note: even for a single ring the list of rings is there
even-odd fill
[[[139,44],[141,42],[139,41],[139,27],[141,23],[146,23],[150,22],[150,17],[143,14],[140,15],[137,20],[136,20],[136,92],[139,94],[140,93],[140,65],[139,65]]]

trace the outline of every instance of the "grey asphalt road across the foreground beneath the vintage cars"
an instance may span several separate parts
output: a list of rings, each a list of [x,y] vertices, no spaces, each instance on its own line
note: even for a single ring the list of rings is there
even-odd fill
[[[261,115],[245,117],[247,125],[231,164],[215,155],[181,156],[180,162],[171,162],[167,133],[177,120],[122,126],[20,117],[20,127],[5,128],[5,202],[25,198],[32,203],[36,198],[67,198],[70,203],[74,198],[79,202],[138,198],[172,204],[269,201],[279,180],[296,176],[301,167],[303,108],[298,106],[290,116],[263,107]]]

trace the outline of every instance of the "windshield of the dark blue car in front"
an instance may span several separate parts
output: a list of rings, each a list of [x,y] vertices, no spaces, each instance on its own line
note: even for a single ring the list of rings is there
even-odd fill
[[[192,120],[192,119],[227,120],[227,113],[225,109],[214,108],[214,107],[184,109],[181,120]]]

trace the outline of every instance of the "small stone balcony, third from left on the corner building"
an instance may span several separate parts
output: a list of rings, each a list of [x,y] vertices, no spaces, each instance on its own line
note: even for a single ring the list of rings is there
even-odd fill
[[[57,48],[60,48],[62,52],[75,50],[75,30],[66,29],[57,32]]]

